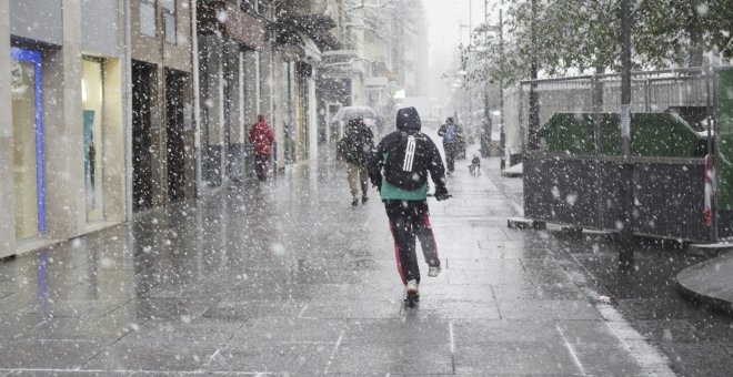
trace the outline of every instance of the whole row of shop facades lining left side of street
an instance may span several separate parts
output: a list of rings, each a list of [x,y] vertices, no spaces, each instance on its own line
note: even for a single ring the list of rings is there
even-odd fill
[[[0,1],[0,257],[318,154],[337,0]]]

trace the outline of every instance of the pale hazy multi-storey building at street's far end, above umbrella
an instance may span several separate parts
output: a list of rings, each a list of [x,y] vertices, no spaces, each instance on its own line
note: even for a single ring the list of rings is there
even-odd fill
[[[342,106],[365,105],[381,118],[378,135],[393,126],[400,99],[424,94],[428,40],[419,0],[344,0],[339,32],[343,48],[323,54],[319,75],[322,142],[340,139],[332,121]]]

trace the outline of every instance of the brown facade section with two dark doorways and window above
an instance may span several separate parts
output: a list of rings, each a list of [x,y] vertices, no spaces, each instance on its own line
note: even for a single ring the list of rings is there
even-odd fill
[[[191,7],[131,0],[129,17],[132,211],[195,195]]]

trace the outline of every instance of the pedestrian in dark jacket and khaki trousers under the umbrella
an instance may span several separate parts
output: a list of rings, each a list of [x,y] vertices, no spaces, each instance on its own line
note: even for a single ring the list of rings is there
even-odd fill
[[[361,203],[369,201],[369,172],[366,163],[374,147],[374,134],[364,121],[352,119],[347,123],[343,137],[339,142],[338,153],[347,161],[351,205],[359,205],[359,187],[361,186]]]

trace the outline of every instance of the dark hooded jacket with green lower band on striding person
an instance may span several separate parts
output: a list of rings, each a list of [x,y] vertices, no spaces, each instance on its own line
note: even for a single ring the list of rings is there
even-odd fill
[[[382,200],[406,200],[406,201],[419,201],[425,200],[428,194],[428,183],[422,187],[416,190],[402,190],[399,188],[384,180],[382,176],[382,169],[386,169],[385,161],[389,156],[390,146],[403,135],[421,134],[424,136],[428,143],[426,153],[421,155],[415,155],[415,159],[421,159],[421,161],[415,160],[415,166],[426,166],[426,172],[430,172],[430,176],[435,184],[436,193],[448,193],[445,188],[445,167],[443,166],[443,161],[440,156],[440,152],[435,146],[435,143],[428,137],[426,135],[420,132],[421,123],[420,115],[414,108],[400,109],[396,115],[396,131],[388,134],[380,141],[379,145],[371,159],[369,160],[369,177],[374,186],[380,190]],[[426,173],[426,172],[416,172],[416,173]]]

